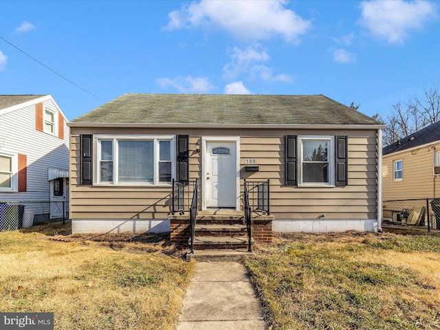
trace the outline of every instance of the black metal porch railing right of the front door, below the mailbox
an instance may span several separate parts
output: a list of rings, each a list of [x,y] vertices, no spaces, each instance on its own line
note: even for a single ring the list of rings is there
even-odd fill
[[[251,212],[270,215],[270,180],[246,181],[245,191],[248,191],[248,200]]]

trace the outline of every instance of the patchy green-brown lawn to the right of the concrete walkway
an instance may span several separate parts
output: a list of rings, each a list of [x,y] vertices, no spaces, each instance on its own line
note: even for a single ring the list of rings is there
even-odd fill
[[[440,236],[280,234],[245,259],[272,329],[440,329]]]

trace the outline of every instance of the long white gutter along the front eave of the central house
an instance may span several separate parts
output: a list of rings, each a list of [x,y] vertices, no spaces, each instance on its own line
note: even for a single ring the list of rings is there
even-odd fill
[[[148,129],[384,129],[383,124],[182,124],[176,123],[102,123],[102,122],[68,122],[69,127],[87,128],[148,128]]]

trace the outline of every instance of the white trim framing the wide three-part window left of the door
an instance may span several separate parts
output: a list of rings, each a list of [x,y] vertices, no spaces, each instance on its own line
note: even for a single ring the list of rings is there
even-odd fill
[[[100,181],[100,140],[113,140],[113,182]],[[154,141],[155,164],[154,182],[118,182],[118,140],[148,140]],[[159,140],[169,140],[171,153],[171,179],[175,179],[177,161],[175,135],[94,135],[94,186],[171,186],[171,182],[159,182]]]

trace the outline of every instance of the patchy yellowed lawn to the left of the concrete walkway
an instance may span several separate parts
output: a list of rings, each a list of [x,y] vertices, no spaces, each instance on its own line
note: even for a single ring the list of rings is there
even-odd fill
[[[0,232],[1,311],[54,312],[63,330],[175,329],[194,265],[167,256],[163,240],[115,248],[116,239],[34,230]]]

